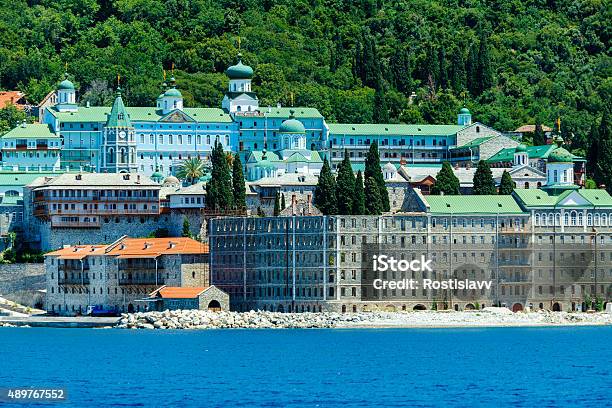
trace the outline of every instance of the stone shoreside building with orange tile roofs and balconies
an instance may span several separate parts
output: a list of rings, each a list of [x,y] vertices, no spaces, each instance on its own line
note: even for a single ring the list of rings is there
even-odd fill
[[[126,238],[110,245],[74,245],[45,255],[46,310],[83,314],[89,306],[145,310],[163,286],[206,287],[208,247],[190,238]]]

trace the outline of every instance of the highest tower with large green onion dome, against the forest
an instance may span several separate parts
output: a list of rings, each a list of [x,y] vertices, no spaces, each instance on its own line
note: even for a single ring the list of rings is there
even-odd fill
[[[238,63],[225,70],[229,86],[221,107],[229,113],[252,112],[259,109],[257,95],[251,90],[253,68],[242,63],[242,54],[238,54]]]

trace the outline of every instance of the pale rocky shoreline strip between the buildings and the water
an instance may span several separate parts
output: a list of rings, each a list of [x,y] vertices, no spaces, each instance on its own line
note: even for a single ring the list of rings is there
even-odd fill
[[[537,311],[513,313],[506,308],[475,311],[368,313],[208,312],[174,310],[123,314],[115,327],[126,329],[294,329],[401,327],[512,327],[612,325],[609,313]]]

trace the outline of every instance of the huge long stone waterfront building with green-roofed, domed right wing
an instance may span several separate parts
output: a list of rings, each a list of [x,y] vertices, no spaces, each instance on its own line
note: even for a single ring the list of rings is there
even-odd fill
[[[505,305],[578,310],[612,297],[612,197],[573,184],[569,153],[551,154],[546,189],[512,196],[407,190],[383,216],[218,218],[211,280],[236,310],[362,311]],[[571,158],[570,158],[571,159]],[[551,161],[552,163],[552,161]],[[554,167],[554,168],[553,168]],[[431,260],[433,271],[384,279],[470,279],[481,289],[376,291],[372,254]]]

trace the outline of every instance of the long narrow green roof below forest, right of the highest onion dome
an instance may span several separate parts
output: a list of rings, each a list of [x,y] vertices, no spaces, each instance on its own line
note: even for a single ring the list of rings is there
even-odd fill
[[[329,123],[330,135],[453,136],[466,126],[461,125],[397,125]]]

